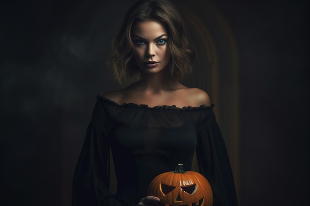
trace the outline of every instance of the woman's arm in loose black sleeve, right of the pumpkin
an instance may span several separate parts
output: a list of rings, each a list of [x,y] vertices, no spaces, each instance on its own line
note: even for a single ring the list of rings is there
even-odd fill
[[[198,130],[197,159],[200,172],[209,181],[214,206],[237,206],[233,175],[222,134],[210,109]]]

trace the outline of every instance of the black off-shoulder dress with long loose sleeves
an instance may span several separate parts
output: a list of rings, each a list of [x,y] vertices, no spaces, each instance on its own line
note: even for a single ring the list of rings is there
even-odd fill
[[[226,147],[211,107],[177,108],[133,103],[118,105],[97,97],[75,170],[73,206],[136,206],[155,176],[178,163],[209,181],[214,206],[237,206]],[[117,194],[109,191],[109,150]]]

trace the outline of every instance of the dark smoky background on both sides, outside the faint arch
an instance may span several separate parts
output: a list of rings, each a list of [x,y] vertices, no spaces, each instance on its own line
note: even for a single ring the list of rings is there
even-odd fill
[[[118,88],[105,62],[132,2],[0,1],[1,205],[70,205],[95,97]],[[239,203],[306,206],[308,1],[213,3],[238,47]]]

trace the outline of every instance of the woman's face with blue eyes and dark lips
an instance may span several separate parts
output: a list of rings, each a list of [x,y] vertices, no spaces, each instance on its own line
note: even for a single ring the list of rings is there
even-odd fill
[[[131,33],[134,58],[137,65],[147,74],[162,71],[170,61],[167,48],[168,33],[159,21],[138,21]]]

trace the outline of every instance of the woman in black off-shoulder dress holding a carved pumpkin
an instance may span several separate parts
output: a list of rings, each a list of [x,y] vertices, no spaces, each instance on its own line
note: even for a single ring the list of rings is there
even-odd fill
[[[166,0],[139,0],[127,12],[109,60],[126,88],[98,96],[73,185],[74,206],[151,206],[155,176],[178,163],[209,181],[214,206],[236,206],[226,148],[207,93],[179,81],[192,70],[184,23]],[[109,150],[117,194],[109,191]]]

